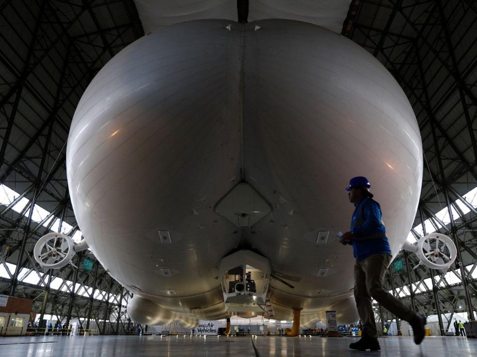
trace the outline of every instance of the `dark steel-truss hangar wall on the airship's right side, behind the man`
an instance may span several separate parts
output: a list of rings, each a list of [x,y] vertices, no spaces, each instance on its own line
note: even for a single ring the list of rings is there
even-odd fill
[[[413,227],[421,224],[426,234],[429,220],[433,229],[454,240],[459,253],[449,271],[459,282],[451,284],[445,272],[422,266],[412,270],[418,261],[404,252],[405,267],[396,273],[391,265],[387,286],[416,310],[437,314],[441,335],[451,327],[441,313],[450,312],[452,319],[455,312],[466,311],[474,319],[477,307],[477,279],[472,277],[477,211],[463,198],[477,186],[476,22],[477,6],[471,0],[354,0],[342,30],[388,68],[416,114],[424,178]],[[450,223],[436,215],[443,208]],[[382,320],[395,318],[380,312],[380,306],[377,313]]]

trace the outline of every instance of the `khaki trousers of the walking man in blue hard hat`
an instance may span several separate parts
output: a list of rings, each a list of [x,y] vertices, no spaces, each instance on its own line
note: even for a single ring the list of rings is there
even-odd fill
[[[391,259],[391,254],[373,254],[362,261],[356,261],[354,265],[354,298],[363,325],[363,337],[378,337],[372,298],[402,320],[409,322],[416,315],[383,288]]]

